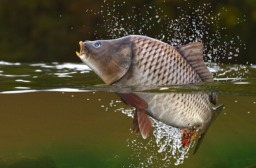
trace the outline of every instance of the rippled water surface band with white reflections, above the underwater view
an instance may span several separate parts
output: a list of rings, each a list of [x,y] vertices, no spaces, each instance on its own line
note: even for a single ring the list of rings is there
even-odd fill
[[[113,92],[182,92],[207,94],[256,94],[255,65],[221,65],[210,68],[211,72],[226,71],[224,75],[214,76],[215,83],[195,83],[185,85],[165,85],[158,87],[112,86],[103,81],[84,64],[74,63],[10,63],[0,61],[0,92],[48,90],[71,88],[79,91],[101,90]],[[242,77],[237,73],[243,74]],[[26,82],[24,82],[26,81]],[[22,88],[20,88],[22,87]],[[71,91],[71,90],[70,90]],[[10,93],[10,92],[8,92]],[[15,92],[14,92],[15,93]]]

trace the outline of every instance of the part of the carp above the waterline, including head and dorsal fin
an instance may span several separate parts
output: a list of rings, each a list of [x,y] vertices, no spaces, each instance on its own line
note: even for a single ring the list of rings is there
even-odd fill
[[[99,47],[94,47],[95,43],[99,43]],[[150,37],[129,35],[114,40],[81,41],[80,47],[77,55],[106,84],[166,85],[213,81],[204,65],[203,45],[199,42],[173,47]]]

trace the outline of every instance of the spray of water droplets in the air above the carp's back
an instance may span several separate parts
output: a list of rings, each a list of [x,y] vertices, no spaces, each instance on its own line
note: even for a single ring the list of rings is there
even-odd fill
[[[97,25],[105,30],[105,34],[111,39],[120,38],[127,35],[139,34],[148,35],[152,38],[163,40],[173,46],[180,46],[190,42],[201,42],[204,45],[203,58],[209,68],[218,67],[222,60],[236,61],[239,51],[245,49],[245,44],[239,35],[228,36],[225,34],[226,27],[219,26],[219,20],[228,12],[227,9],[217,11],[210,3],[202,3],[198,7],[193,7],[193,1],[184,0],[179,9],[179,16],[172,18],[168,12],[159,6],[144,5],[141,7],[131,6],[128,3],[105,0],[101,5],[99,16],[103,18],[103,23]],[[124,16],[120,11],[130,8]],[[188,13],[186,11],[191,11]],[[90,11],[90,9],[87,9]],[[127,11],[127,9],[125,10]],[[94,12],[91,10],[91,12]],[[96,12],[97,13],[97,12]],[[245,17],[245,16],[244,16]],[[245,18],[238,18],[237,23],[243,23]],[[138,25],[139,27],[135,26]],[[234,23],[236,24],[236,23]],[[157,32],[151,31],[155,27]],[[97,39],[103,39],[102,35],[94,32]],[[222,37],[229,40],[223,41]],[[223,64],[222,64],[223,65]],[[246,65],[242,65],[245,66]],[[219,72],[220,71],[220,72]],[[212,72],[214,77],[223,73],[221,69]],[[246,73],[236,71],[229,77],[238,78]]]

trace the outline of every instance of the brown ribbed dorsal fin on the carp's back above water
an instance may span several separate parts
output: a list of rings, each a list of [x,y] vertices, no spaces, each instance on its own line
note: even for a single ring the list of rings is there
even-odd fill
[[[204,82],[213,82],[211,72],[204,64],[203,49],[204,46],[200,42],[189,43],[186,45],[176,47],[182,57],[189,65],[198,73]]]

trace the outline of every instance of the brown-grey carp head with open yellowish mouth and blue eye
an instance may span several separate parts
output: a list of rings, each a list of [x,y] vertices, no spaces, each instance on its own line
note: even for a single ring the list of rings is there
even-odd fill
[[[106,84],[121,79],[131,66],[131,42],[125,38],[79,42],[77,56]]]

